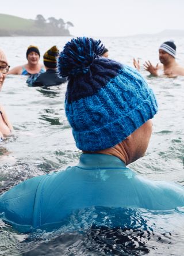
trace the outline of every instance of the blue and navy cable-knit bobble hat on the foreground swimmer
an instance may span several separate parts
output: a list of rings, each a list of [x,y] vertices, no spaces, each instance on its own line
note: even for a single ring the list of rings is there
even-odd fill
[[[65,110],[76,146],[84,151],[110,148],[125,140],[158,107],[141,74],[100,58],[104,46],[87,37],[72,39],[60,53],[59,76],[68,77]]]

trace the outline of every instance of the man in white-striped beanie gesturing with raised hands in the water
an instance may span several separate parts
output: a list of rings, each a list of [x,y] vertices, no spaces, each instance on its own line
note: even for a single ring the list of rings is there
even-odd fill
[[[163,70],[163,74],[168,77],[184,76],[184,67],[175,60],[176,50],[177,46],[172,40],[162,43],[159,47],[159,60],[162,65],[157,63],[156,66],[153,66],[150,61],[147,61],[144,63],[144,69],[150,72],[152,76],[158,76],[159,69]],[[139,61],[136,62],[133,59],[133,64],[140,70]]]

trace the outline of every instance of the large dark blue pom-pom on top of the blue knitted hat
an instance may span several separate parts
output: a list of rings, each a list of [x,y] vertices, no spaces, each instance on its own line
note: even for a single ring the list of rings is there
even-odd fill
[[[78,76],[87,73],[91,63],[99,58],[103,51],[101,40],[88,37],[72,39],[60,53],[57,69],[59,76]]]

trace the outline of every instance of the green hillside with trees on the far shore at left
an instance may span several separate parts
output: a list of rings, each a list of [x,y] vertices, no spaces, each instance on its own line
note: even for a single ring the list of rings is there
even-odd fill
[[[0,36],[70,36],[70,27],[74,27],[70,21],[46,20],[41,14],[35,20],[0,14]]]

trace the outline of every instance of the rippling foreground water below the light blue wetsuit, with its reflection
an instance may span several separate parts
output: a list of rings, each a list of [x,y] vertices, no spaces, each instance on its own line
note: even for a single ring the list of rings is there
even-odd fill
[[[21,255],[171,255],[184,249],[184,209],[154,212],[143,209],[90,208],[75,211],[61,228],[18,234],[1,225],[1,253]],[[164,216],[164,220],[163,220]],[[178,219],[177,221],[175,219]],[[180,223],[179,223],[180,222]],[[0,223],[1,224],[1,223]],[[116,224],[116,225],[115,225]],[[175,230],[177,227],[177,231]],[[9,242],[7,234],[10,233]],[[177,245],[178,244],[178,245]]]

